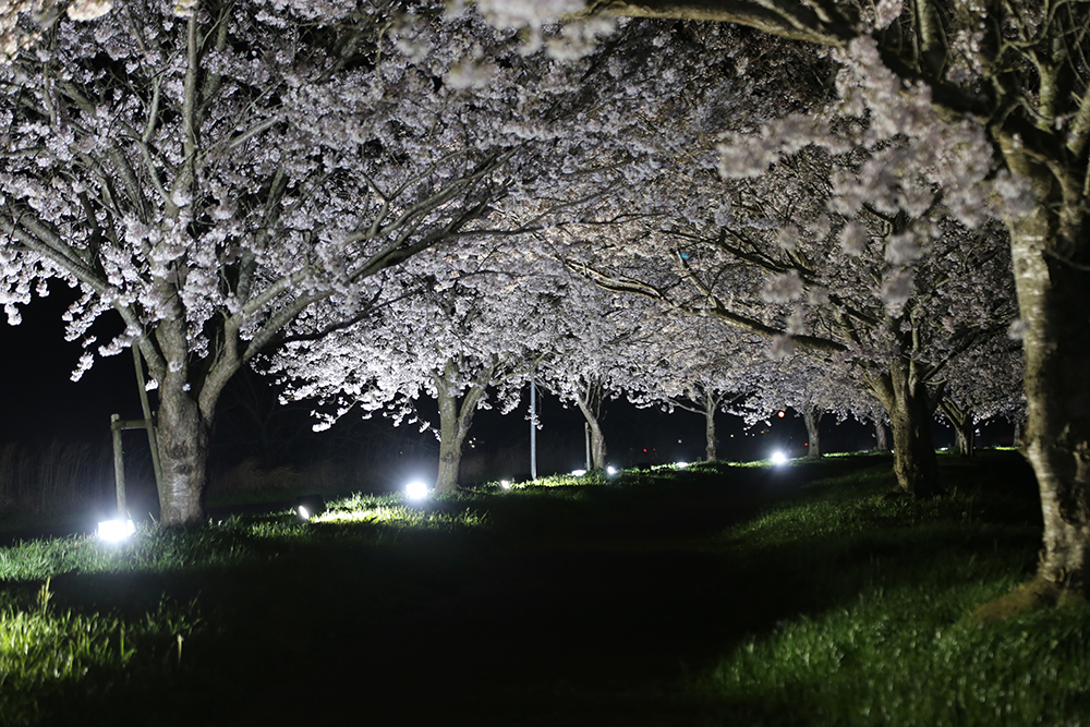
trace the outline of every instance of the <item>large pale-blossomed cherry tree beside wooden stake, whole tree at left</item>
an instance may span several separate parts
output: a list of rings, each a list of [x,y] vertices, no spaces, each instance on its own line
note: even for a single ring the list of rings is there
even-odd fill
[[[141,348],[161,522],[199,522],[231,375],[289,329],[362,315],[414,255],[510,231],[484,218],[530,195],[511,171],[532,140],[521,120],[562,117],[586,69],[532,62],[514,32],[438,2],[93,14],[60,15],[0,69],[0,302],[16,323],[46,279],[80,288],[77,374],[96,349]],[[107,312],[123,331],[99,344]]]

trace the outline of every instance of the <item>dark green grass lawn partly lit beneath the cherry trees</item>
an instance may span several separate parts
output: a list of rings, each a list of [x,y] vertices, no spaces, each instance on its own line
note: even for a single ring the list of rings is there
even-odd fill
[[[559,478],[0,548],[0,724],[1062,725],[1090,610],[980,627],[1040,546],[1016,452]]]

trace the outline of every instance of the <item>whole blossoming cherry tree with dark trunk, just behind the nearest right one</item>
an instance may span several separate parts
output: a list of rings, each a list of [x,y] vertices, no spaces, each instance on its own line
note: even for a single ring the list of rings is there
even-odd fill
[[[846,170],[872,160],[848,156]],[[799,152],[723,186],[717,203],[707,195],[703,210],[606,233],[626,245],[577,245],[570,264],[609,290],[766,337],[774,358],[798,349],[860,378],[888,412],[899,489],[927,496],[937,486],[937,377],[1013,316],[1006,239],[959,225],[923,181],[899,185],[915,218],[850,208],[847,192],[833,195],[833,169]]]

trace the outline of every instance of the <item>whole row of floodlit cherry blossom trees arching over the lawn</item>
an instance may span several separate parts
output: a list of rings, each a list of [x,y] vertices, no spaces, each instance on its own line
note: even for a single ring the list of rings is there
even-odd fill
[[[1042,593],[1081,591],[1085,3],[589,4],[46,13],[0,71],[9,318],[59,277],[81,367],[141,347],[181,524],[257,359],[328,416],[435,397],[444,483],[536,367],[592,429],[619,392],[887,416],[929,495],[936,408],[1018,405],[1017,317]],[[649,14],[691,22],[601,21]]]

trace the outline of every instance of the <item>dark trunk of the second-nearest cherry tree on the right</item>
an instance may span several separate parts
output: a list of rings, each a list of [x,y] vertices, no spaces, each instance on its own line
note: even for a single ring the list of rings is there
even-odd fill
[[[928,385],[916,362],[907,356],[895,359],[888,374],[871,380],[871,390],[889,414],[897,489],[931,497],[938,487],[938,460],[931,439]]]

